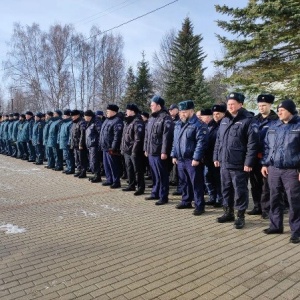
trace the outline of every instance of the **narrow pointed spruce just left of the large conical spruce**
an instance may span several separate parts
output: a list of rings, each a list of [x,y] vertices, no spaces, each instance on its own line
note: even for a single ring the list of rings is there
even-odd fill
[[[142,53],[142,56],[142,60],[138,62],[136,76],[136,104],[140,110],[149,110],[149,97],[153,95],[153,84],[149,63],[145,60],[144,52]]]

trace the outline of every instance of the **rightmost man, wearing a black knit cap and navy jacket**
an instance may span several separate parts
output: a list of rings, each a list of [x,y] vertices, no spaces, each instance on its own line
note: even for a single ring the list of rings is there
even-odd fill
[[[278,116],[267,131],[262,159],[262,175],[270,187],[270,225],[264,233],[283,233],[284,188],[290,206],[290,242],[296,244],[300,243],[300,117],[290,99],[278,105]]]

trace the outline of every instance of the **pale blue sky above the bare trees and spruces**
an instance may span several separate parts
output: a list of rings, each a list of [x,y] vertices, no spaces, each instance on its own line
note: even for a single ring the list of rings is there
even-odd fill
[[[0,12],[0,60],[6,59],[6,42],[10,40],[13,24],[37,23],[48,31],[51,25],[73,24],[77,32],[88,35],[93,25],[102,31],[158,9],[173,0],[8,0]],[[178,0],[112,32],[124,38],[124,56],[127,66],[136,67],[145,51],[146,60],[152,61],[159,50],[162,37],[172,28],[181,29],[185,17],[194,25],[194,34],[202,34],[201,46],[207,54],[206,75],[213,74],[212,61],[220,58],[221,45],[215,33],[225,34],[216,25],[224,16],[215,12],[216,4],[244,7],[247,0]]]

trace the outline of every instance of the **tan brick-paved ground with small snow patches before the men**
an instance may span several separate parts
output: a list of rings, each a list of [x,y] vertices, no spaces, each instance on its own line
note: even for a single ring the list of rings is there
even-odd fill
[[[196,217],[179,197],[157,207],[5,156],[0,191],[1,300],[300,298],[287,224],[266,236],[253,216],[236,230],[220,209]]]

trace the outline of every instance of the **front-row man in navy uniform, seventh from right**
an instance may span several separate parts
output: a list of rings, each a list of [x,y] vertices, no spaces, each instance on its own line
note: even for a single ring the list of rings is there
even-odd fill
[[[100,132],[102,121],[96,118],[95,113],[90,109],[84,112],[84,120],[86,122],[85,144],[88,149],[89,166],[94,174],[94,177],[89,178],[89,180],[92,183],[101,182],[100,161],[102,161],[102,153],[100,148]]]

